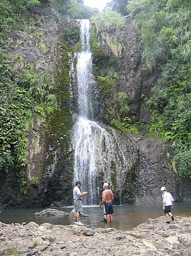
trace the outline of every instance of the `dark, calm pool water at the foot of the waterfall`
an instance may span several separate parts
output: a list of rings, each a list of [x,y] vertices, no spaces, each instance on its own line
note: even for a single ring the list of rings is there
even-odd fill
[[[49,222],[59,225],[73,224],[74,220],[69,220],[68,215],[64,217],[41,217],[34,215],[35,212],[42,211],[45,208],[30,208],[30,209],[15,209],[1,210],[0,221],[10,223],[29,223],[35,221],[37,224]],[[70,212],[73,207],[59,207],[54,209]],[[83,207],[83,213],[88,214],[90,218],[81,219],[88,227],[107,227],[104,222],[101,222],[103,210],[100,207]],[[172,208],[172,214],[175,216],[191,216],[191,202],[175,202],[175,207]],[[148,218],[157,218],[164,216],[162,204],[152,205],[117,205],[114,206],[113,227],[122,230],[132,230],[132,228],[148,220]],[[164,217],[165,220],[165,217]]]

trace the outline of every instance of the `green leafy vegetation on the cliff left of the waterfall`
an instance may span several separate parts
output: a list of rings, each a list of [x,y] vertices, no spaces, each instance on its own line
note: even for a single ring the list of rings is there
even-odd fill
[[[53,86],[50,82],[48,84],[46,71],[38,71],[39,62],[27,63],[26,56],[8,54],[9,46],[14,44],[9,33],[17,30],[19,33],[26,33],[31,46],[35,42],[35,45],[46,52],[42,34],[37,32],[42,18],[33,13],[33,9],[50,2],[52,1],[0,2],[0,177],[9,181],[9,175],[14,173],[23,194],[26,192],[26,131],[33,118],[42,121],[55,111],[60,99],[55,94],[56,82]],[[18,38],[13,46],[16,49],[22,43],[23,39]],[[67,80],[68,74],[65,73],[66,69],[64,76]],[[54,74],[52,79],[53,77]],[[36,181],[35,178],[32,180],[33,183]]]

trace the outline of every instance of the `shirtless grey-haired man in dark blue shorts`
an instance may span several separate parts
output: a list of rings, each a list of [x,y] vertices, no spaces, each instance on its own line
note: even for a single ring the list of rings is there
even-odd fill
[[[107,182],[103,185],[103,193],[102,193],[102,201],[100,203],[101,205],[105,205],[105,214],[107,218],[107,225],[112,225],[112,214],[114,213],[113,207],[112,207],[112,201],[114,200],[114,195],[112,194],[111,189],[108,189],[109,184]]]

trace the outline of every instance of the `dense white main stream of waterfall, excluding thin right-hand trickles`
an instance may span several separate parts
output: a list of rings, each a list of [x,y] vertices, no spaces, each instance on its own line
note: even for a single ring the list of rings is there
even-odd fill
[[[91,97],[93,95],[92,59],[90,52],[90,21],[83,19],[80,30],[81,52],[77,54],[77,105],[79,117],[73,127],[74,182],[80,180],[87,188],[88,197],[84,204],[97,204],[95,134],[99,127],[93,118]]]

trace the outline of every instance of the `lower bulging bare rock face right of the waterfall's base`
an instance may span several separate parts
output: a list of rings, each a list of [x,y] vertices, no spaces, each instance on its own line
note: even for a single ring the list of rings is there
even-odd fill
[[[116,204],[161,202],[160,189],[163,185],[175,201],[182,199],[177,173],[170,168],[172,151],[168,144],[162,144],[156,138],[120,131],[117,141],[120,145],[117,151],[124,153],[127,163],[125,165],[121,159],[121,169],[118,168],[115,180],[113,172],[108,175]]]

